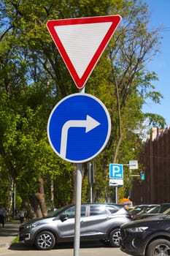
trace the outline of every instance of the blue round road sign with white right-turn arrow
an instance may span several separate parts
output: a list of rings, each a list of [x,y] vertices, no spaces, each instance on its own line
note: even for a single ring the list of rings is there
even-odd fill
[[[71,94],[50,113],[47,135],[59,157],[68,162],[87,162],[109,140],[111,120],[104,104],[90,94]]]

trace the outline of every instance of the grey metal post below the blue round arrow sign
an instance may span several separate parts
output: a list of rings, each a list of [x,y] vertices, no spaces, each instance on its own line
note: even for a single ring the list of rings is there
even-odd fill
[[[76,217],[74,233],[74,256],[79,256],[80,252],[80,218],[82,200],[82,164],[77,164],[77,184],[76,184]]]

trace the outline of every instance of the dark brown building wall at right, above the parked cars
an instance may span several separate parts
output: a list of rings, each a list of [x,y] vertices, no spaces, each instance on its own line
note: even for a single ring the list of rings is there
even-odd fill
[[[170,127],[152,129],[139,162],[145,180],[134,180],[131,191],[134,204],[170,202]]]

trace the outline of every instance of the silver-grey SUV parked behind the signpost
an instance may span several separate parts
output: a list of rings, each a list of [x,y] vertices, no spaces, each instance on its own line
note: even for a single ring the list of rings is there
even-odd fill
[[[74,241],[75,206],[64,206],[41,219],[20,225],[19,240],[36,245],[38,249],[52,249],[63,241]],[[81,206],[80,240],[108,241],[120,246],[120,225],[131,222],[131,214],[120,204],[85,203]]]

